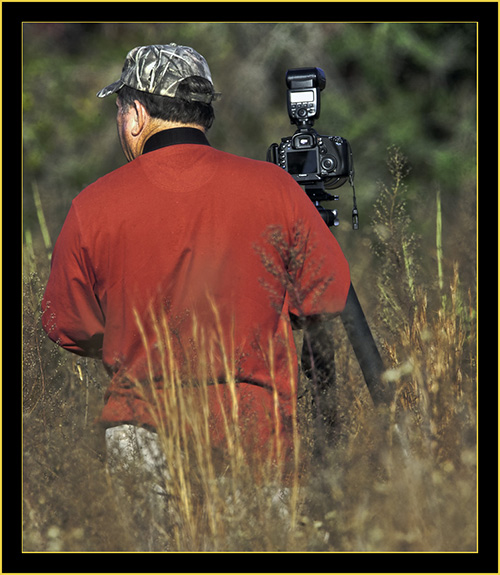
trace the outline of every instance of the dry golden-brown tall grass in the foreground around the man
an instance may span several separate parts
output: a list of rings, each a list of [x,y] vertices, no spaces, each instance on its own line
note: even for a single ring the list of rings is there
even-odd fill
[[[461,285],[458,265],[442,290],[421,281],[401,201],[403,166],[393,155],[393,182],[382,188],[374,218],[382,262],[376,272],[378,333],[388,367],[384,377],[395,384],[396,397],[386,412],[375,411],[342,325],[333,321],[337,382],[322,396],[332,412],[327,422],[318,415],[324,405],[318,410],[310,380],[302,374],[297,382],[288,514],[264,488],[279,485],[279,464],[264,459],[264,479],[256,483],[256,470],[245,458],[230,353],[225,361],[233,409],[221,460],[210,445],[206,386],[201,382],[196,396],[184,393],[169,357],[168,325],[162,318],[153,323],[163,342],[167,393],[153,396],[151,407],[161,405],[170,414],[158,422],[175,509],[158,525],[169,550],[476,550],[474,296]],[[39,252],[46,258],[43,248]],[[102,436],[93,425],[106,376],[97,363],[71,357],[44,336],[38,310],[46,271],[34,254],[28,245],[24,550],[133,551],[137,533],[120,520]],[[431,290],[439,295],[434,309]],[[196,335],[209,358],[209,342],[200,330]],[[209,361],[202,368],[208,381]],[[276,441],[279,450],[279,436]]]

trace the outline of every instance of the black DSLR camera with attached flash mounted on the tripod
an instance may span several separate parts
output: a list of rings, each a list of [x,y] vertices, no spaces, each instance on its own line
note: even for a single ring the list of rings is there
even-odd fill
[[[354,166],[351,146],[340,136],[321,136],[313,129],[320,114],[320,92],[326,85],[321,68],[297,68],[286,73],[287,109],[290,122],[297,126],[293,136],[271,144],[267,161],[281,166],[306,191],[328,226],[338,225],[337,211],[325,210],[319,202],[338,199],[326,189],[353,185]],[[355,221],[356,216],[356,221]],[[353,210],[357,229],[357,210]]]

